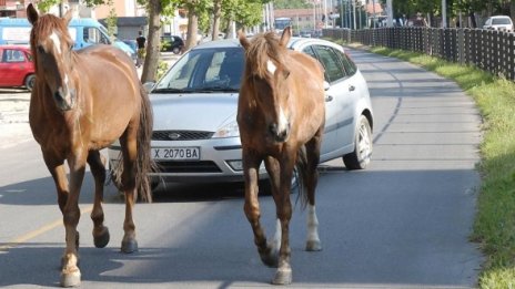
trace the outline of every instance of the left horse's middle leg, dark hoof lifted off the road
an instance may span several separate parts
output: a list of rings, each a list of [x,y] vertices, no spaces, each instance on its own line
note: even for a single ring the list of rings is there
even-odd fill
[[[91,151],[88,155],[88,164],[94,177],[94,204],[91,211],[93,220],[94,247],[103,248],[109,244],[109,229],[103,225],[104,215],[102,209],[103,185],[105,183],[105,158],[99,151]]]

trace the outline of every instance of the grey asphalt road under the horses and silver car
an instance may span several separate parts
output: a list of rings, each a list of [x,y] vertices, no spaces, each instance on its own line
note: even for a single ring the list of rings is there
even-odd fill
[[[340,159],[321,166],[323,250],[303,250],[305,211],[296,206],[290,288],[475,287],[483,258],[467,237],[482,135],[473,101],[408,63],[350,53],[373,97],[373,161],[360,172],[345,171]],[[64,229],[41,153],[33,141],[20,141],[0,146],[0,286],[55,287]],[[271,235],[273,200],[260,199]],[[93,246],[91,202],[88,175],[79,224],[83,288],[271,287],[274,269],[259,260],[241,186],[171,185],[155,203],[138,204],[140,250],[132,255],[119,251],[124,206],[114,189],[105,197],[104,249]]]

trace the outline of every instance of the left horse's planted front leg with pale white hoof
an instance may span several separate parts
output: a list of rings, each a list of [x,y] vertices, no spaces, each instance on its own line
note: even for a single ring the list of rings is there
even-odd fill
[[[61,269],[61,286],[77,287],[81,282],[81,273],[78,267],[78,238],[77,225],[79,224],[79,194],[84,178],[85,158],[88,152],[75,152],[75,156],[68,159],[70,165],[70,194],[63,210],[67,248],[64,250],[63,267]]]

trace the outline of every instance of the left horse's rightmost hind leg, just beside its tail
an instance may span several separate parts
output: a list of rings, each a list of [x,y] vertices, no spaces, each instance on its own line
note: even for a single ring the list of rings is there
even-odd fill
[[[123,155],[122,190],[125,195],[125,219],[123,221],[123,239],[121,251],[134,252],[138,250],[135,239],[135,225],[132,217],[132,209],[135,203],[135,162],[137,162],[137,132],[128,131],[120,138]]]

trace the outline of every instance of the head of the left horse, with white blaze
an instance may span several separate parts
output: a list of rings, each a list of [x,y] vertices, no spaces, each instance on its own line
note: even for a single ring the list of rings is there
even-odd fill
[[[75,87],[70,76],[73,69],[73,40],[68,32],[71,10],[63,18],[40,16],[30,3],[27,16],[32,24],[30,47],[38,82],[51,92],[59,110],[69,111],[75,104]]]

